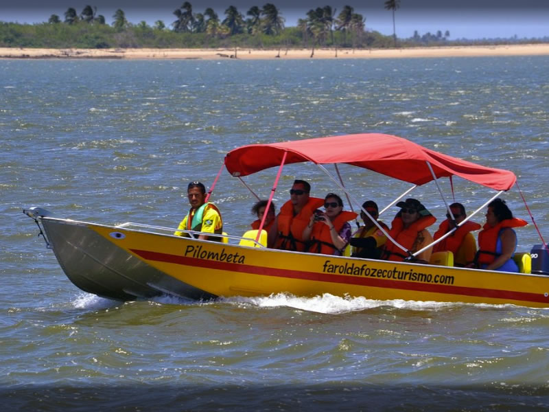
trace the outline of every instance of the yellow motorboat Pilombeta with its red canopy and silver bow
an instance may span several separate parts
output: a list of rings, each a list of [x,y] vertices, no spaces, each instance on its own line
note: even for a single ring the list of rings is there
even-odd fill
[[[271,202],[284,166],[300,162],[320,168],[359,209],[360,201],[327,165],[338,170],[338,165],[347,164],[412,184],[383,211],[414,187],[433,181],[449,211],[441,179],[465,179],[493,190],[493,196],[467,220],[516,182],[509,170],[488,168],[380,133],[250,144],[227,153],[222,169],[246,184],[243,177],[277,168]],[[314,297],[329,293],[381,300],[549,307],[549,252],[543,239],[536,253],[515,255],[521,273],[506,273],[454,267],[447,259],[414,262],[414,255],[423,249],[404,262],[269,249],[266,232],[261,230],[264,222],[257,231],[243,236],[225,233],[224,242],[214,242],[196,238],[194,231],[185,231],[189,237],[175,236],[173,227],[136,222],[99,225],[55,216],[42,207],[23,211],[36,221],[71,282],[109,299],[160,295],[214,299],[276,293]]]

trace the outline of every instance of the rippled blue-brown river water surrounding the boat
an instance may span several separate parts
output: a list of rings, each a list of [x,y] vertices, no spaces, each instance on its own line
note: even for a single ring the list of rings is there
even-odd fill
[[[188,181],[211,184],[232,148],[379,132],[513,170],[549,238],[548,64],[0,60],[0,397],[31,410],[546,410],[547,310],[330,295],[121,304],[75,288],[21,209],[173,226]],[[340,170],[380,205],[409,187]],[[334,189],[311,165],[284,173],[281,187]],[[267,196],[273,179],[246,182]],[[469,210],[490,194],[455,183]],[[443,216],[435,190],[414,195]],[[517,190],[504,198],[530,220]],[[253,220],[226,172],[214,199],[229,233]],[[524,251],[541,243],[533,225],[518,236]]]

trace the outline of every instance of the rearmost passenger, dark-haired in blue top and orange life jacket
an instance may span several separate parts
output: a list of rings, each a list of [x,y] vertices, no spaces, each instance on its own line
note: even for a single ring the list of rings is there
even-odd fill
[[[526,226],[526,220],[513,218],[505,201],[497,198],[488,204],[486,224],[478,233],[476,266],[488,271],[518,272],[513,260],[517,234],[513,227]]]

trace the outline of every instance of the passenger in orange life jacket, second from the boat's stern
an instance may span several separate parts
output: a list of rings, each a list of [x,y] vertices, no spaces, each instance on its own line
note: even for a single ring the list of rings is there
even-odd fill
[[[465,214],[465,207],[461,203],[452,203],[450,205],[450,211],[446,214],[446,220],[444,220],[439,226],[439,230],[434,233],[434,240],[442,238],[447,232],[451,231],[465,220],[467,215]],[[480,225],[476,222],[467,220],[463,225],[458,227],[451,235],[449,235],[441,242],[437,243],[433,247],[433,252],[451,251],[454,253],[454,266],[464,267],[474,262],[476,255],[476,240],[471,231],[480,229]]]

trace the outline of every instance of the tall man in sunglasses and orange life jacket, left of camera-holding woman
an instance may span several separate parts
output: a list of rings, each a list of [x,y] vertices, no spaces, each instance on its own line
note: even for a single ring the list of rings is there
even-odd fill
[[[315,209],[324,199],[309,197],[311,185],[296,180],[290,189],[290,200],[280,208],[269,231],[268,245],[285,251],[304,251],[303,229],[309,223]]]

